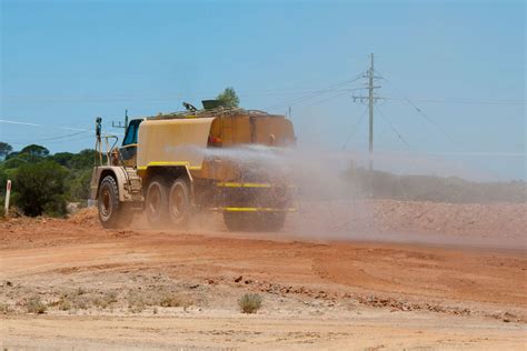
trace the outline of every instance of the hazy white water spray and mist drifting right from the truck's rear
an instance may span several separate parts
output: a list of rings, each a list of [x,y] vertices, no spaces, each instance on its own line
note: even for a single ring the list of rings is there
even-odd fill
[[[295,189],[296,208],[281,233],[287,238],[505,247],[525,239],[525,220],[506,228],[503,223],[504,217],[526,210],[525,184],[520,184],[519,195],[516,188],[508,192],[500,189],[497,194],[486,192],[485,184],[477,190],[477,183],[459,176],[474,179],[480,172],[438,158],[376,156],[371,161],[377,171],[371,176],[368,154],[354,152],[265,146],[201,152],[245,164],[266,177],[286,179]],[[485,225],[475,224],[478,221]]]

